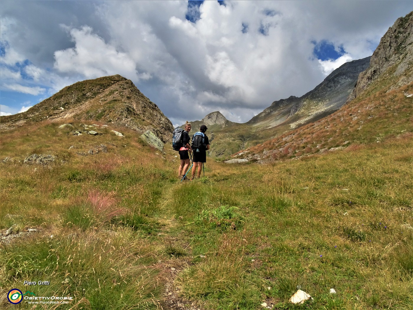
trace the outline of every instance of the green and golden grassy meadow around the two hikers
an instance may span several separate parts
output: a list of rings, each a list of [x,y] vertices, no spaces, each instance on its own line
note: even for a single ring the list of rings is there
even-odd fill
[[[169,145],[73,124],[1,134],[0,229],[36,229],[0,243],[1,309],[34,309],[14,288],[73,298],[36,309],[170,309],[172,287],[205,310],[413,308],[411,133],[269,165],[208,158],[180,183]],[[290,303],[297,289],[313,299]]]

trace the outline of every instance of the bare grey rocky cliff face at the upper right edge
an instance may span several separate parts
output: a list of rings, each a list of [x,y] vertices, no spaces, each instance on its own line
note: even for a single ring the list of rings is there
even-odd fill
[[[393,66],[392,72],[387,72]],[[384,72],[396,78],[394,88],[413,81],[413,12],[397,19],[382,37],[371,56],[370,66],[359,75],[347,102],[360,95]]]

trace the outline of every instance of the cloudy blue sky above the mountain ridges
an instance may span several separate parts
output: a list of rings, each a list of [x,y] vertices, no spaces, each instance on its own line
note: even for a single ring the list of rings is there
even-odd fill
[[[411,0],[2,0],[0,114],[120,74],[177,126],[247,122],[371,56]]]

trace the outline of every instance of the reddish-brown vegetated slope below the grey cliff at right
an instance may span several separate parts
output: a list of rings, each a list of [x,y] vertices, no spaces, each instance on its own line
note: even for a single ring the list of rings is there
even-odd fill
[[[246,157],[267,162],[311,155],[352,144],[380,143],[411,132],[413,83],[356,99],[329,117],[307,124],[247,150]]]

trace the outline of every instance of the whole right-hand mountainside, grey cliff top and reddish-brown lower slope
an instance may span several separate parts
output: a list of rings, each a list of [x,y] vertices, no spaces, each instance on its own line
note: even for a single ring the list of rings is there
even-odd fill
[[[411,134],[412,20],[412,13],[397,19],[383,36],[370,67],[358,78],[350,96],[355,99],[328,117],[256,145],[241,156],[268,162]]]

